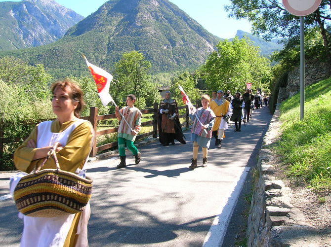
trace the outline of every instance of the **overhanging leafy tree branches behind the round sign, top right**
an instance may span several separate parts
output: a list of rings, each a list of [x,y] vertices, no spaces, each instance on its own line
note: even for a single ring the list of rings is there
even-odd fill
[[[246,18],[252,24],[254,35],[269,40],[273,37],[292,38],[300,34],[299,17],[291,15],[283,7],[282,0],[231,0],[230,17]],[[317,27],[323,39],[323,46],[331,62],[330,34],[327,31],[331,20],[331,1],[323,0],[320,7],[304,17],[305,28]]]

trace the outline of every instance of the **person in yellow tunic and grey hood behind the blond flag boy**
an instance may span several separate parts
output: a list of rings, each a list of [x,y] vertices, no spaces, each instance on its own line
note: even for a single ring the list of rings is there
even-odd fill
[[[212,127],[212,135],[215,138],[215,145],[217,148],[221,148],[221,142],[223,140],[224,131],[227,130],[228,127],[228,119],[232,114],[232,110],[230,108],[230,103],[224,99],[224,92],[222,90],[217,91],[217,99],[210,103],[210,109],[215,113],[215,124]]]

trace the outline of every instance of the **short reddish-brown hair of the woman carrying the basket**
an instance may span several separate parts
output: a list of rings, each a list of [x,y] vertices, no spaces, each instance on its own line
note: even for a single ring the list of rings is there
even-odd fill
[[[50,86],[52,94],[54,94],[56,87],[60,87],[62,90],[65,90],[67,87],[71,89],[71,93],[69,96],[71,97],[72,101],[78,103],[74,114],[75,117],[79,118],[83,108],[86,106],[83,100],[83,91],[80,86],[70,79],[59,80],[52,83],[52,85]]]

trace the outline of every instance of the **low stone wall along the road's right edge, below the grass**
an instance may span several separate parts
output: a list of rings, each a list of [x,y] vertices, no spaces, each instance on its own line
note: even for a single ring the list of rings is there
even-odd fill
[[[275,158],[268,145],[277,140],[280,123],[279,107],[264,136],[257,169],[259,179],[253,192],[248,215],[248,247],[315,246],[307,239],[317,229],[305,222],[304,215],[293,208],[292,191],[275,177]],[[312,245],[311,245],[312,244]]]

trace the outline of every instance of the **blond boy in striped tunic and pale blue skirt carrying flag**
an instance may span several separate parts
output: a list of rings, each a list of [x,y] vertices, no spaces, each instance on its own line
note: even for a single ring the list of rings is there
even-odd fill
[[[203,153],[203,162],[202,167],[207,166],[207,156],[208,156],[208,147],[210,145],[211,139],[211,128],[215,122],[215,114],[208,107],[210,98],[207,94],[201,96],[202,107],[198,108],[196,111],[191,107],[190,118],[194,121],[191,129],[191,141],[193,141],[193,158],[192,164],[189,167],[194,169],[198,166],[198,151],[199,146],[202,147]],[[199,121],[199,120],[200,121]]]

